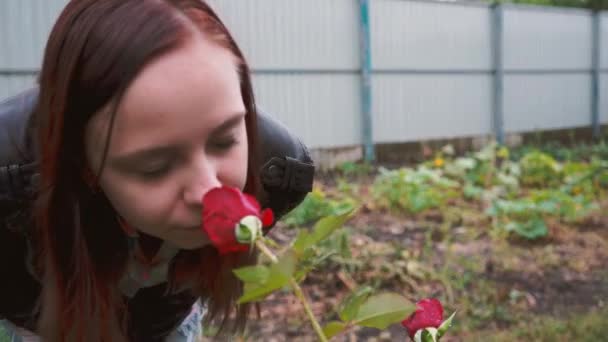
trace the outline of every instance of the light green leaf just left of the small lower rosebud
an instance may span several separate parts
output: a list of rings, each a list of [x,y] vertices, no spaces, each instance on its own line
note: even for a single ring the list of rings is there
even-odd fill
[[[359,308],[354,323],[364,327],[386,329],[401,322],[414,312],[415,306],[404,297],[394,293],[382,293],[367,298]]]

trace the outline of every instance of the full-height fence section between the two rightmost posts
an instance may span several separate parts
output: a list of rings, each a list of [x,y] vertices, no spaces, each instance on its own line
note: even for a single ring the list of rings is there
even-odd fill
[[[505,131],[588,126],[591,123],[590,12],[506,6],[504,15]],[[526,75],[519,73],[522,70],[548,73]]]

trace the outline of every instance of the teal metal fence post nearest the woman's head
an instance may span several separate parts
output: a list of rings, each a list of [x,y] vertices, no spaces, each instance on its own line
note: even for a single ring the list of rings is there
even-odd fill
[[[376,159],[372,127],[372,51],[369,21],[369,1],[359,0],[361,45],[361,114],[364,157],[366,162]]]

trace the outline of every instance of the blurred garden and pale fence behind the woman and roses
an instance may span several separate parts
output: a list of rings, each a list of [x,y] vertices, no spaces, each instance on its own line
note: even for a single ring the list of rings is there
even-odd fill
[[[319,169],[274,237],[362,208],[305,281],[324,321],[368,284],[442,299],[447,340],[606,339],[608,1],[209,2]],[[66,3],[0,0],[0,99]],[[313,338],[289,295],[262,308],[244,338]]]

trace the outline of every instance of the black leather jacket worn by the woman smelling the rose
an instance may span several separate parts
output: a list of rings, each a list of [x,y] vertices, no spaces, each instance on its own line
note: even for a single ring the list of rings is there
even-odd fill
[[[38,90],[0,102],[0,318],[29,329],[40,284],[29,267],[29,238],[20,225],[37,177],[34,146],[27,124]],[[300,140],[264,112],[258,113],[260,202],[280,218],[312,190],[314,165]],[[196,298],[184,292],[165,296],[166,284],[142,288],[129,300],[137,341],[162,341],[187,316]]]

